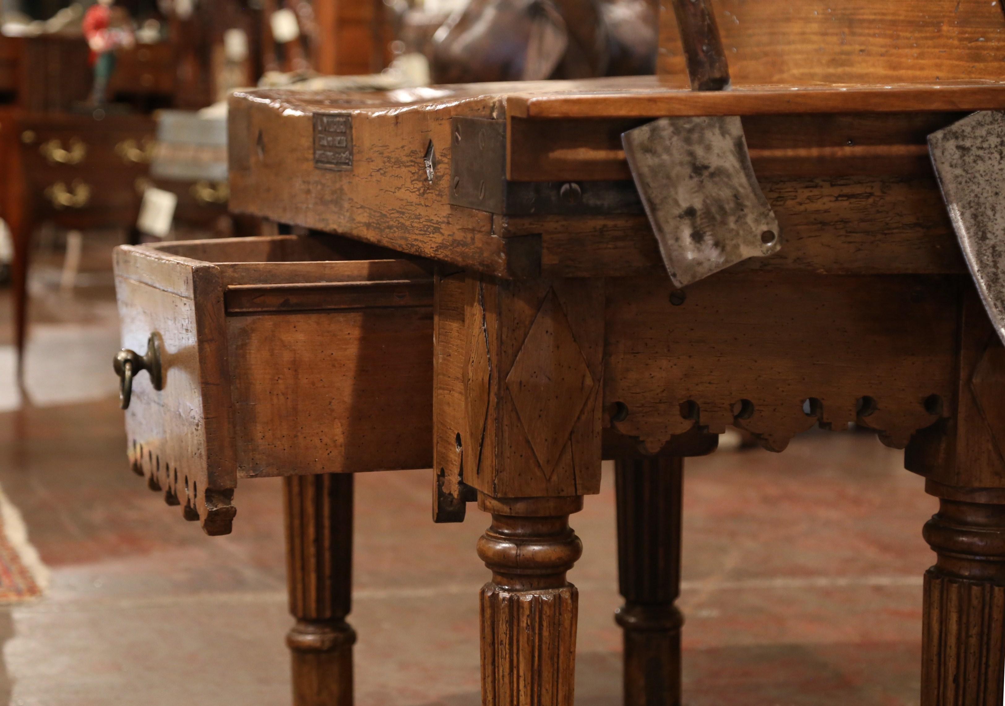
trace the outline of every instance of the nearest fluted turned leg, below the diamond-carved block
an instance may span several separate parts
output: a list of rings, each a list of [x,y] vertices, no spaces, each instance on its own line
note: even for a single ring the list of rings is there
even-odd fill
[[[583,551],[569,527],[582,496],[497,500],[478,556],[492,571],[481,589],[483,706],[572,706],[579,595],[566,580]]]

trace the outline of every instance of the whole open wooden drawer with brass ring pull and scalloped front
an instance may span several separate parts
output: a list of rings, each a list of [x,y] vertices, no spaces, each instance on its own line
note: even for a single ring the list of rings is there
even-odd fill
[[[432,276],[354,255],[283,235],[117,249],[130,461],[207,533],[230,531],[238,478],[431,464]]]

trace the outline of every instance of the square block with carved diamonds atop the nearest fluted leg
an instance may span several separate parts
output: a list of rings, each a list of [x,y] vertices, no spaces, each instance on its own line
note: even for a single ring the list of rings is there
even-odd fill
[[[464,482],[492,497],[599,492],[602,280],[467,277]]]

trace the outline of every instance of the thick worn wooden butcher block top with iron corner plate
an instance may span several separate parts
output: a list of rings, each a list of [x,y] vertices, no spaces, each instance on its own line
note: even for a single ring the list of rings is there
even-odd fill
[[[231,209],[500,277],[655,273],[620,136],[739,114],[783,247],[738,269],[961,272],[927,136],[1005,82],[742,86],[656,76],[230,99]]]

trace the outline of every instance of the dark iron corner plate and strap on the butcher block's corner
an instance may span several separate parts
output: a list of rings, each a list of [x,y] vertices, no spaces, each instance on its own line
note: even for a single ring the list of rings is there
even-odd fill
[[[506,178],[506,121],[452,117],[450,204],[501,216],[643,214],[630,180],[512,182]]]

